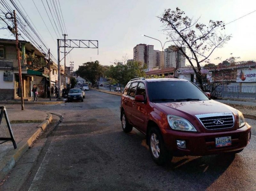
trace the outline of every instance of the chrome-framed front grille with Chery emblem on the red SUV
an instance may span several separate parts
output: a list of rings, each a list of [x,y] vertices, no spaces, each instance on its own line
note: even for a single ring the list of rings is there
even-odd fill
[[[215,116],[214,116],[215,115]],[[196,115],[206,129],[226,129],[234,127],[234,117],[232,113],[215,113]]]

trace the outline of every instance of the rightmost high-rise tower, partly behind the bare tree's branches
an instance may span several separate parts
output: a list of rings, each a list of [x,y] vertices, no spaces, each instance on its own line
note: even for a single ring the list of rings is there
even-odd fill
[[[182,50],[185,52],[185,47]],[[185,60],[186,58],[181,53],[179,47],[172,45],[164,49],[164,68],[185,67]]]

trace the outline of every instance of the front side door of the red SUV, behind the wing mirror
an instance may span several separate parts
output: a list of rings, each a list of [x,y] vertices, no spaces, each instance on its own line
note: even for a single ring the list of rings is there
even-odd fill
[[[145,84],[140,82],[137,87],[136,95],[143,95],[144,100],[146,100],[146,89]],[[145,132],[146,127],[146,101],[145,102],[137,102],[133,100],[132,103],[132,117],[134,118],[134,126]]]

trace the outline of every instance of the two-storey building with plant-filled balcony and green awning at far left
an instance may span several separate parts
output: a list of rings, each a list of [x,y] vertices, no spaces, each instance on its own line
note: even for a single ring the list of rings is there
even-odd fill
[[[37,85],[39,95],[43,96],[46,92],[49,70],[46,68],[45,55],[28,41],[20,40],[19,43],[23,92],[20,88],[16,41],[0,39],[0,76],[3,76],[0,77],[0,99],[16,99],[21,93],[24,97],[32,97],[33,84]],[[36,56],[36,62],[27,62],[27,55]]]

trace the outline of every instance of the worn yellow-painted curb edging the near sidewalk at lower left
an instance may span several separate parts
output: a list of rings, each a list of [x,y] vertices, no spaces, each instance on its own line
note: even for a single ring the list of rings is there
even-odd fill
[[[20,143],[17,144],[17,149],[9,151],[3,159],[0,161],[0,182],[4,177],[12,170],[15,163],[25,153],[31,144],[36,140],[40,133],[46,129],[47,125],[52,121],[52,114],[48,113],[47,118],[39,124],[34,132],[28,137],[24,138]]]

